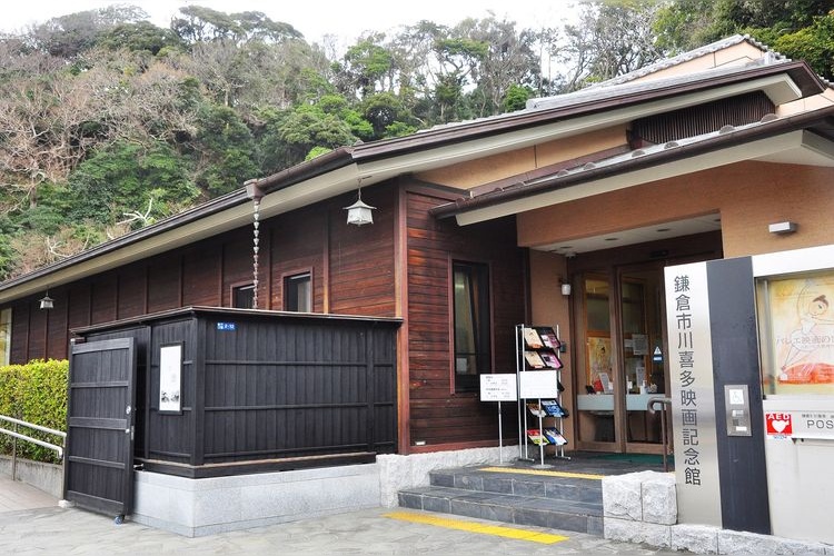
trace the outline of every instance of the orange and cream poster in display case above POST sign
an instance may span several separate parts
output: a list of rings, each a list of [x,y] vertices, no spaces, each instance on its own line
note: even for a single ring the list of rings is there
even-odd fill
[[[834,276],[771,280],[765,315],[772,393],[834,390]],[[770,371],[770,373],[768,373]],[[767,376],[770,375],[770,376]],[[796,387],[801,388],[796,388]]]

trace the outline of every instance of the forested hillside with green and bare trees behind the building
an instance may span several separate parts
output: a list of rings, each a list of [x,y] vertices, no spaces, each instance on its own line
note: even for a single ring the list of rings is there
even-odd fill
[[[0,279],[339,146],[524,108],[736,32],[834,73],[833,0],[623,0],[421,21],[345,52],[291,22],[131,6],[0,36]]]

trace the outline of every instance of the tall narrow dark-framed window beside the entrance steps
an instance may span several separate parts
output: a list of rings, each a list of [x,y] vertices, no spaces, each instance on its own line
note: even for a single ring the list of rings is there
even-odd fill
[[[455,388],[478,388],[478,375],[492,371],[489,269],[453,262]]]

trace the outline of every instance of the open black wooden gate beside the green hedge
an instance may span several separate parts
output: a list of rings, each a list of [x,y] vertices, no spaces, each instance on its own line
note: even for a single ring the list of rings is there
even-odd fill
[[[135,383],[133,338],[72,346],[63,495],[117,523],[133,493]]]

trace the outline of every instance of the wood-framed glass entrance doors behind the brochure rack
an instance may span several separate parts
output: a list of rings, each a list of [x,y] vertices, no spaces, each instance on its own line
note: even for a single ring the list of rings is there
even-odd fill
[[[659,414],[649,398],[667,389],[662,265],[587,272],[576,332],[579,447],[661,453]]]

